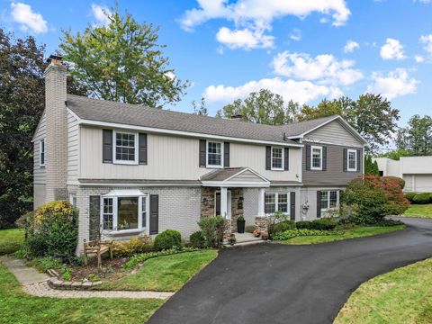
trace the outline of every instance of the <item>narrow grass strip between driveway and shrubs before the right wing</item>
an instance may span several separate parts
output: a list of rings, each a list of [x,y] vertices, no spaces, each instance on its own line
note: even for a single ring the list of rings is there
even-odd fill
[[[358,226],[353,229],[346,229],[341,234],[329,236],[304,236],[290,238],[284,241],[275,241],[276,243],[302,245],[302,244],[318,244],[333,242],[347,238],[363,238],[378,234],[389,233],[394,230],[404,229],[405,225],[389,226],[389,227],[374,227],[374,226]]]

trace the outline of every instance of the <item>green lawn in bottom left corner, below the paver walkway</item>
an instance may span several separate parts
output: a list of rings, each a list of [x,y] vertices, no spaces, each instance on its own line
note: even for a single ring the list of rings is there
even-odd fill
[[[144,323],[161,300],[33,297],[0,263],[0,323]]]

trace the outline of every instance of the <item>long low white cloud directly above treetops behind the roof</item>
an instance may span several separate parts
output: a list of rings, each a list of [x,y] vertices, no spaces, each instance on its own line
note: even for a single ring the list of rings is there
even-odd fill
[[[342,95],[338,87],[315,85],[311,81],[282,80],[279,77],[249,81],[238,86],[210,85],[203,95],[208,103],[223,104],[245,98],[251,92],[260,89],[269,89],[275,94],[281,94],[285,101],[293,100],[298,103],[307,103],[323,96],[337,98]]]

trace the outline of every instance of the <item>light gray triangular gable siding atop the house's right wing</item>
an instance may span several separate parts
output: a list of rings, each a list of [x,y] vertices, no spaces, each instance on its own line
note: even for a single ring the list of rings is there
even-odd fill
[[[327,125],[313,130],[304,136],[311,141],[323,141],[330,144],[362,148],[362,144],[339,121],[330,121]],[[312,140],[313,139],[313,140]]]

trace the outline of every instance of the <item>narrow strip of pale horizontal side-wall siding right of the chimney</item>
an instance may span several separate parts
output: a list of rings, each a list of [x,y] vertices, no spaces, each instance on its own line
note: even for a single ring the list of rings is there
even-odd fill
[[[78,180],[79,125],[76,118],[67,113],[67,183]]]

